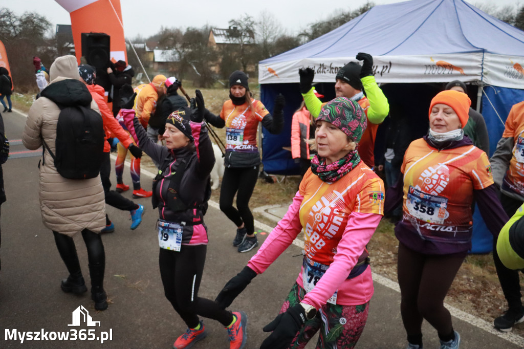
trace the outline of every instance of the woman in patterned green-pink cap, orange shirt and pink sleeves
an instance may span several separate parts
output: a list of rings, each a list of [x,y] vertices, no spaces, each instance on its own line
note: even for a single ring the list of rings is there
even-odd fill
[[[272,334],[261,349],[303,348],[319,329],[316,347],[352,348],[364,330],[374,291],[366,244],[384,201],[383,181],[356,150],[366,125],[362,107],[346,97],[322,107],[312,142],[317,154],[293,203],[217,297],[227,307],[304,232],[302,270],[281,314],[264,328]]]

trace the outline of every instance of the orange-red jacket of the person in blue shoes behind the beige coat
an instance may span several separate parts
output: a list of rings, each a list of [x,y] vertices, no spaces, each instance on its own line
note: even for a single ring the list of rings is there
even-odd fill
[[[100,85],[86,85],[88,90],[93,97],[96,105],[99,107],[100,114],[102,115],[102,120],[104,121],[104,131],[105,131],[105,142],[104,142],[104,152],[111,151],[111,146],[107,141],[107,138],[112,136],[118,138],[122,145],[127,149],[130,144],[133,143],[131,137],[125,130],[120,126],[118,121],[116,121],[111,109],[107,106],[104,100],[104,88]]]

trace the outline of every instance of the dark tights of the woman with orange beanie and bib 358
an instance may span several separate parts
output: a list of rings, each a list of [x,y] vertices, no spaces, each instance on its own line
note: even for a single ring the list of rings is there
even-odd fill
[[[441,339],[452,333],[451,314],[444,308],[444,297],[465,257],[465,252],[425,255],[399,243],[400,313],[408,336],[421,335],[422,319],[436,329]]]

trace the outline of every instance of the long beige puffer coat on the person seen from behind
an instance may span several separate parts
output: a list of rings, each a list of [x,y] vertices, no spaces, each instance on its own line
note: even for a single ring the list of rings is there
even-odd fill
[[[77,59],[74,56],[57,58],[51,65],[49,77],[51,80],[49,86],[61,81],[63,83],[67,79],[79,80]],[[65,90],[65,93],[60,95],[62,100],[78,99],[78,91],[72,93]],[[89,94],[87,89],[85,91]],[[91,107],[99,112],[94,101],[91,101]],[[31,105],[22,135],[26,148],[38,149],[42,146],[40,137],[43,137],[53,153],[56,151],[59,114],[60,108],[57,104],[44,96]],[[105,227],[104,189],[100,175],[96,178],[80,180],[63,178],[54,167],[53,159],[47,149],[40,163],[39,197],[43,224],[53,231],[73,236],[84,228],[100,233]]]

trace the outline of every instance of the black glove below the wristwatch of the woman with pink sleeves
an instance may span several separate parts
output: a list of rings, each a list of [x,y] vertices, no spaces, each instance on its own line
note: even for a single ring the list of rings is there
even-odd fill
[[[260,349],[286,349],[305,323],[305,311],[299,304],[279,314],[275,320],[264,326],[264,332],[271,332],[260,345]]]

